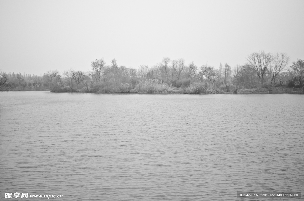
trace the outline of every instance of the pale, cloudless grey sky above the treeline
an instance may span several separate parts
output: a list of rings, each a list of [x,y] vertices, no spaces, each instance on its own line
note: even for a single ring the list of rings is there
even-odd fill
[[[111,64],[244,64],[252,52],[304,60],[304,1],[0,0],[0,69],[42,74]],[[291,63],[290,63],[291,65]]]

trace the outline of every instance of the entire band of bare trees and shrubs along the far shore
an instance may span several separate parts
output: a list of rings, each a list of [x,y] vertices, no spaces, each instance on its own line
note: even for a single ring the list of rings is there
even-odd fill
[[[286,53],[254,52],[247,63],[234,68],[228,63],[214,66],[186,64],[184,59],[165,57],[161,63],[138,69],[110,65],[96,59],[88,72],[50,70],[43,76],[0,71],[1,90],[51,90],[92,93],[258,93],[304,91],[304,61],[287,67]]]

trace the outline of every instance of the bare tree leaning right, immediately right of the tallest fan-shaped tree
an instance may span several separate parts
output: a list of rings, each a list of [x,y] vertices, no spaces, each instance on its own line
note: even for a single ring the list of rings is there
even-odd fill
[[[286,53],[276,52],[273,62],[269,66],[269,72],[271,73],[271,84],[277,78],[278,74],[284,70],[288,65],[290,57]]]

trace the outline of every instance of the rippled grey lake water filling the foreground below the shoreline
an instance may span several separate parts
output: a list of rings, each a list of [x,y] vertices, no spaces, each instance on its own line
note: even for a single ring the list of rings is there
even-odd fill
[[[1,92],[0,123],[2,198],[236,200],[237,191],[304,192],[301,94]]]

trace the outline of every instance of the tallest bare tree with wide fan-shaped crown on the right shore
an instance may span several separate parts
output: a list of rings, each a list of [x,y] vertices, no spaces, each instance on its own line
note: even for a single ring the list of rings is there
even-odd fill
[[[253,52],[247,56],[247,61],[250,66],[253,67],[255,73],[260,78],[261,83],[263,83],[264,75],[267,72],[267,67],[270,66],[273,61],[273,56],[271,53],[265,53],[264,50],[259,52]]]

